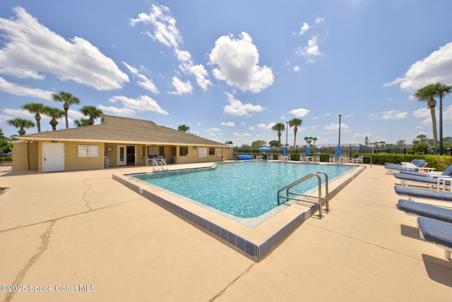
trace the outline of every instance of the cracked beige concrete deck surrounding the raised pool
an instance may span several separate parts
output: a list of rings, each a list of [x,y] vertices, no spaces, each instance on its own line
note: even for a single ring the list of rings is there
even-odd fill
[[[0,187],[10,188],[0,195],[0,284],[27,289],[0,291],[0,301],[448,301],[452,295],[452,262],[419,239],[415,217],[397,210],[398,180],[381,166],[367,166],[331,200],[328,215],[307,219],[261,262],[112,179],[146,169],[152,168],[38,174],[0,167]],[[91,285],[95,291],[87,290]],[[34,294],[32,286],[52,292]]]

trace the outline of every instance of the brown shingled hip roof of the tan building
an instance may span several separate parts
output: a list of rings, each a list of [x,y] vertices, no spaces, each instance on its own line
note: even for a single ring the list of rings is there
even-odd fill
[[[148,145],[213,145],[225,144],[184,133],[153,121],[103,114],[101,123],[57,131],[17,136],[21,140],[61,140],[100,143],[141,143]]]

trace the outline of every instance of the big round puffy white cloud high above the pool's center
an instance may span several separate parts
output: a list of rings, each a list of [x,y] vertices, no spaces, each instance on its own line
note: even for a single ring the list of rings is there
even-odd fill
[[[239,39],[232,35],[219,37],[209,54],[213,75],[242,91],[260,92],[273,83],[273,72],[258,66],[259,53],[251,37],[242,32]]]

